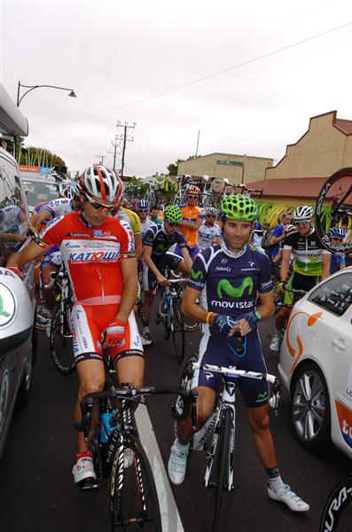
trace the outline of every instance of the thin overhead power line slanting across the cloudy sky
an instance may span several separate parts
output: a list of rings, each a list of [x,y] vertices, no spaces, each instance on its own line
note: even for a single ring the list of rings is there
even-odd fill
[[[102,114],[112,113],[113,111],[119,111],[120,109],[124,109],[126,107],[130,106],[136,106],[137,104],[141,104],[143,102],[146,102],[148,100],[151,100],[153,98],[159,98],[160,96],[164,96],[165,94],[169,94],[170,92],[175,92],[176,90],[185,89],[186,87],[191,87],[191,85],[195,85],[196,83],[205,82],[206,80],[209,80],[213,77],[216,77],[218,75],[226,74],[227,72],[231,72],[231,70],[235,70],[237,68],[240,68],[242,66],[250,65],[256,61],[260,61],[261,59],[269,58],[270,56],[273,56],[277,53],[280,53],[281,51],[289,50],[290,48],[294,48],[295,46],[300,46],[303,43],[308,43],[309,41],[313,41],[314,39],[317,39],[319,37],[322,37],[324,35],[328,35],[334,31],[337,31],[339,29],[342,29],[343,27],[348,27],[352,24],[352,20],[349,22],[346,22],[345,24],[342,24],[341,26],[332,27],[331,29],[327,29],[326,31],[317,34],[317,35],[311,35],[310,37],[306,37],[305,39],[301,39],[301,41],[297,41],[296,43],[287,44],[286,46],[283,46],[282,48],[278,48],[274,51],[269,51],[268,53],[264,53],[261,56],[258,56],[254,59],[248,59],[246,61],[243,61],[242,63],[238,63],[237,65],[229,66],[228,68],[224,68],[223,70],[219,70],[218,72],[215,72],[213,74],[208,74],[204,77],[197,78],[195,80],[192,80],[192,82],[183,83],[182,85],[177,85],[176,87],[173,87],[171,89],[163,90],[161,92],[157,92],[155,94],[152,94],[150,96],[146,96],[145,98],[139,98],[133,102],[129,102],[129,104],[123,104],[122,106],[113,107],[112,109],[108,109],[106,111],[102,111],[100,113],[95,114],[89,114],[87,116],[82,116],[82,118],[77,118],[75,120],[62,122],[61,124],[53,124],[52,126],[47,126],[45,128],[39,128],[39,129],[33,129],[33,131],[42,131],[43,129],[49,129],[49,128],[57,128],[61,126],[66,126],[67,124],[72,124],[77,121],[83,121],[88,120],[90,118],[95,118],[96,116],[101,116]]]

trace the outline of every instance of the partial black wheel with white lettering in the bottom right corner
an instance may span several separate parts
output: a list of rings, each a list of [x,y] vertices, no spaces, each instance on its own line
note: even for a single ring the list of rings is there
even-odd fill
[[[327,497],[320,532],[350,532],[352,522],[352,473],[340,481]]]

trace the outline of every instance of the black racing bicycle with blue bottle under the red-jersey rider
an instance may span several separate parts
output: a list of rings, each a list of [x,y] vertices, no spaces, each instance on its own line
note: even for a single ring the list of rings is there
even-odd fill
[[[98,424],[90,438],[97,483],[93,486],[82,484],[82,489],[100,489],[103,481],[109,480],[112,532],[161,532],[160,507],[153,473],[139,439],[131,405],[145,395],[160,394],[181,394],[185,404],[194,405],[197,394],[180,391],[179,388],[137,388],[123,384],[116,387],[109,349],[104,352],[104,363],[105,389],[82,398],[82,421],[75,424],[77,430],[84,432],[84,439],[88,442],[93,406],[98,402]],[[194,407],[192,412],[195,412]],[[192,419],[195,423],[195,413],[192,413]]]

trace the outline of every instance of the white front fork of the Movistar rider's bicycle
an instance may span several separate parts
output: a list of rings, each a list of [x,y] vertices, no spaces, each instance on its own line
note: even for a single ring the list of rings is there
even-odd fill
[[[211,442],[210,451],[207,452],[207,468],[205,473],[205,487],[213,487],[213,482],[210,481],[212,467],[214,465],[214,458],[216,455],[219,446],[223,440],[223,448],[221,452],[227,453],[227,472],[226,472],[226,490],[231,491],[235,488],[233,480],[233,459],[235,453],[235,429],[236,429],[236,411],[235,411],[235,388],[236,384],[231,381],[226,381],[223,387],[223,393],[220,398],[220,407],[216,414],[215,427],[213,432],[213,438]],[[228,411],[230,416],[230,427],[229,427],[229,439],[225,441],[223,436],[224,428],[224,412]]]

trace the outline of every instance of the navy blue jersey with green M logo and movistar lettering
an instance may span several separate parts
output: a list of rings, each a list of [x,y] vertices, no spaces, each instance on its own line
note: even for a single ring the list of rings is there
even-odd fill
[[[248,246],[235,254],[223,243],[196,256],[187,286],[200,292],[202,309],[239,319],[255,310],[258,293],[272,290],[270,274],[266,254]],[[203,324],[203,332],[212,327]]]

